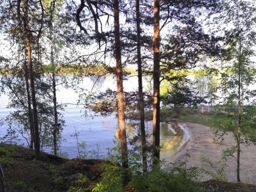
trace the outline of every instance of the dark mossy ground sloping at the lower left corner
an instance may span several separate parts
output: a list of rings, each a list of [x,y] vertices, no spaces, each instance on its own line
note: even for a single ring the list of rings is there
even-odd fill
[[[36,160],[35,152],[30,148],[4,143],[0,147],[12,151],[9,163],[2,164],[8,192],[68,191],[76,184],[78,176],[86,177],[89,187],[101,175],[99,167],[103,160],[68,160],[46,153]]]

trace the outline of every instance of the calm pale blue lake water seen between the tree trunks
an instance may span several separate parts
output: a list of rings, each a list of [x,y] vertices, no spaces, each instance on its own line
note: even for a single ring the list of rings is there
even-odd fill
[[[148,86],[146,79],[143,80],[144,87]],[[124,80],[123,86],[124,91],[135,91],[137,90],[138,79],[137,77],[130,77]],[[80,82],[79,87],[90,90],[93,88],[93,81],[89,77],[83,77],[82,82]],[[107,76],[105,80],[96,85],[93,90],[105,91],[106,89],[116,90],[116,81],[113,77]],[[77,103],[78,94],[72,89],[66,89],[59,87],[57,91],[57,102],[60,103]],[[7,108],[9,98],[7,95],[2,94],[0,99],[0,118],[5,118],[10,112],[15,109]],[[62,153],[67,153],[69,158],[75,158],[78,156],[77,151],[77,141],[74,135],[75,128],[78,135],[78,141],[86,141],[87,151],[97,151],[100,158],[107,157],[107,148],[112,148],[115,146],[113,142],[115,140],[115,130],[118,129],[118,120],[116,114],[109,116],[101,116],[93,112],[87,111],[89,116],[85,116],[85,109],[81,105],[68,104],[65,107],[65,111],[61,112],[63,114],[63,119],[66,121],[66,126],[63,128],[62,137],[65,139],[61,143],[60,151]],[[126,120],[126,134],[129,138],[132,138],[134,134],[139,132],[138,127],[129,126],[130,120]],[[180,134],[175,136],[169,129],[168,123],[161,123],[161,145],[162,153],[161,156],[167,161],[172,161],[179,150],[179,146],[183,141],[182,131]],[[8,124],[4,122],[1,126],[0,137],[6,134],[6,129]],[[146,131],[151,134],[153,130],[153,124],[151,121],[146,122]],[[25,144],[26,140],[20,137],[19,144]],[[148,139],[151,141],[151,138]],[[47,149],[46,152],[50,152]]]

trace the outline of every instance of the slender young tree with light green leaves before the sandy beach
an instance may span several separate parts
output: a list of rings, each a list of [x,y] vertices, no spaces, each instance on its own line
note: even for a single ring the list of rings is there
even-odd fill
[[[223,98],[217,112],[222,117],[214,123],[217,139],[232,133],[236,147],[231,147],[224,155],[234,157],[231,152],[237,151],[237,180],[240,182],[240,144],[254,142],[255,114],[250,109],[255,106],[256,90],[249,89],[254,84],[255,62],[255,5],[246,0],[223,1],[223,10],[214,18],[217,30],[225,34],[225,56],[222,67],[228,72],[221,73],[220,87]],[[229,23],[227,28],[226,24]],[[249,136],[252,134],[252,136]]]

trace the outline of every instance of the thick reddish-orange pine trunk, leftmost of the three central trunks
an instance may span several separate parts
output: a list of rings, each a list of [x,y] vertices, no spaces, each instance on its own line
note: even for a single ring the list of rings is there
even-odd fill
[[[125,116],[123,101],[123,73],[121,62],[121,45],[120,45],[120,27],[119,27],[119,2],[114,0],[114,32],[115,32],[115,56],[116,56],[116,77],[117,77],[117,97],[118,97],[118,120],[120,129],[120,144],[122,152],[122,166],[128,167],[127,143],[125,132]]]

